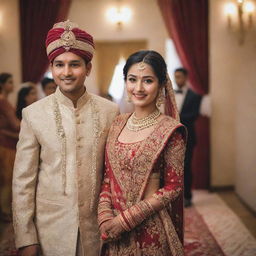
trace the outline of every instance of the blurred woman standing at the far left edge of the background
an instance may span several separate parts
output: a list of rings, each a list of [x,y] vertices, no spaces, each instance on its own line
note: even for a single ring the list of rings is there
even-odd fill
[[[11,221],[11,183],[18,140],[20,121],[8,97],[13,91],[13,77],[9,73],[0,74],[0,218]]]

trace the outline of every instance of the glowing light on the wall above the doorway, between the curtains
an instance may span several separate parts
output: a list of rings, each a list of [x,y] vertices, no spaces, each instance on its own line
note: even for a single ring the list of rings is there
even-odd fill
[[[132,11],[130,8],[125,6],[111,7],[107,10],[106,16],[111,23],[117,25],[119,29],[122,29],[123,24],[130,21]]]

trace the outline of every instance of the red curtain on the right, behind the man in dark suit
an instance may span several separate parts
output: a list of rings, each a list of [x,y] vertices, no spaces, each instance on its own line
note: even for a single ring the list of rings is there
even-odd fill
[[[158,0],[166,28],[182,65],[189,70],[192,88],[208,93],[208,0]],[[193,186],[209,187],[209,120],[196,122]]]

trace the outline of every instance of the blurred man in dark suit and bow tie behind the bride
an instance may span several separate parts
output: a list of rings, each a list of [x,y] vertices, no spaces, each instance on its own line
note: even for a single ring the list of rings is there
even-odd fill
[[[196,133],[194,123],[199,116],[201,96],[196,94],[187,85],[188,71],[178,68],[174,72],[175,82],[178,90],[175,91],[177,107],[180,113],[181,123],[187,127],[188,141],[184,163],[184,205],[191,206],[192,200],[192,155],[196,145]]]

